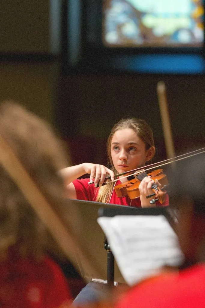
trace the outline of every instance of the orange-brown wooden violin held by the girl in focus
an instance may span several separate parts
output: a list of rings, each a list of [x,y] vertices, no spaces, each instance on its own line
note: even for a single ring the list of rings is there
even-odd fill
[[[161,189],[154,183],[152,185],[153,194],[146,196],[146,198],[151,198],[155,196],[155,199],[150,201],[151,204],[154,204],[156,201],[162,204],[164,203],[164,196],[166,194],[165,189],[168,186],[167,176],[163,173],[163,169],[157,169],[151,173],[146,173],[144,170],[134,173],[133,178],[127,182],[118,184],[114,187],[117,197],[126,197],[130,199],[136,199],[140,197],[139,185],[141,180],[144,177],[150,176],[153,180],[158,180],[159,183],[163,186]]]

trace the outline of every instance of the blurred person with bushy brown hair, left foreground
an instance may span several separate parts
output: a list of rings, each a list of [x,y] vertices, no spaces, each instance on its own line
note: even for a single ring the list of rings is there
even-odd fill
[[[0,136],[52,208],[63,215],[64,184],[58,170],[68,160],[50,126],[17,103],[5,101],[0,104]],[[0,307],[69,305],[66,278],[47,253],[55,247],[48,231],[2,165],[0,183]]]

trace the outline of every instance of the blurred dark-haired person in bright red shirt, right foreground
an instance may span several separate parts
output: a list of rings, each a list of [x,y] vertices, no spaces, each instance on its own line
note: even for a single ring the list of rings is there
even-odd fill
[[[176,163],[170,204],[178,212],[177,234],[185,255],[178,272],[160,274],[125,292],[115,308],[191,308],[205,303],[205,154]]]

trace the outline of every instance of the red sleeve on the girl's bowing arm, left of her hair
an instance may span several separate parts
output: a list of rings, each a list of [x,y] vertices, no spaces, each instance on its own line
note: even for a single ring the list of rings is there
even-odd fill
[[[95,188],[94,184],[88,184],[89,179],[74,180],[73,185],[76,190],[76,198],[78,200],[96,201],[99,188]]]

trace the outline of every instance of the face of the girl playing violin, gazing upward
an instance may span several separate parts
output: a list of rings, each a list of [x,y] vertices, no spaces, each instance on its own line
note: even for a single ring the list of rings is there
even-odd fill
[[[153,155],[154,147],[146,150],[144,142],[133,129],[120,129],[112,137],[111,157],[118,173],[144,166]]]

